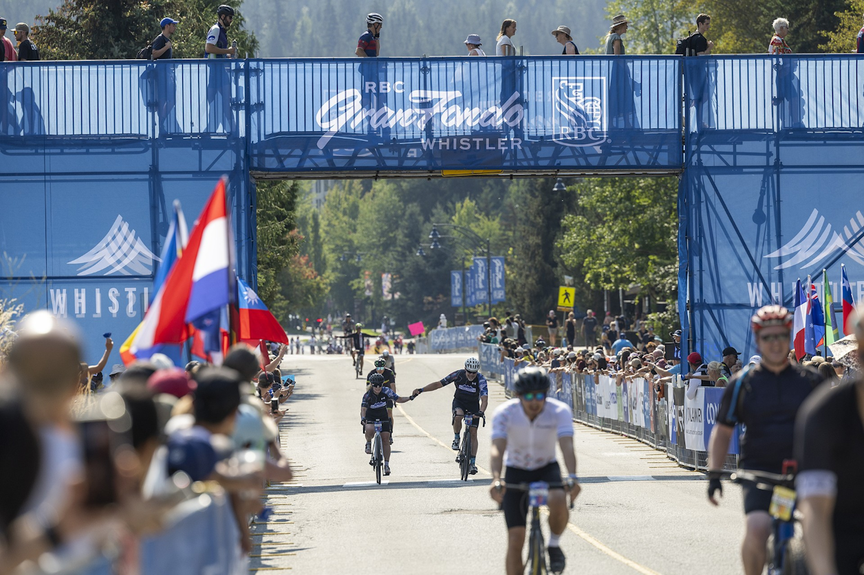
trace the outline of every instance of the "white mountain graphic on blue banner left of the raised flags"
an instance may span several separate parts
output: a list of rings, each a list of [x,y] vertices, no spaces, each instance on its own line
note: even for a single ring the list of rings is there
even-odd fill
[[[130,230],[129,223],[118,216],[92,250],[67,263],[80,265],[78,275],[99,272],[101,275],[150,275],[153,262],[162,260],[144,245],[135,230]]]

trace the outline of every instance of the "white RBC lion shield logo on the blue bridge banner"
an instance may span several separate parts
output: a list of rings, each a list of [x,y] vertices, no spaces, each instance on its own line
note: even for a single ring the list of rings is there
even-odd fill
[[[552,79],[552,139],[562,146],[596,146],[606,141],[606,78]]]

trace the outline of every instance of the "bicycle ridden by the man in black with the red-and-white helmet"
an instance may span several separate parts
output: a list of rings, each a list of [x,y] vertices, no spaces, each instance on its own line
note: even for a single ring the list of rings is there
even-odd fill
[[[795,473],[797,464],[791,460],[783,462],[783,473],[740,470],[729,478],[734,483],[750,481],[756,489],[772,490],[771,507],[772,534],[768,538],[768,575],[806,575],[804,558],[804,532],[800,513],[796,508]]]

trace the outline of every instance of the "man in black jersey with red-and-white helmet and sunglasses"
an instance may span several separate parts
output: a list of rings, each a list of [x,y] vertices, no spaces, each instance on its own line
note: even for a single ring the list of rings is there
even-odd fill
[[[822,382],[814,370],[789,361],[792,314],[783,306],[763,306],[751,327],[762,361],[735,374],[721,399],[717,424],[708,442],[708,500],[717,505],[722,496],[720,477],[735,426],[746,432],[740,441],[738,466],[742,470],[781,473],[785,459],[793,458],[795,416],[810,392]],[[746,532],[741,560],[746,575],[759,575],[766,564],[766,545],[772,531],[771,490],[742,482]]]

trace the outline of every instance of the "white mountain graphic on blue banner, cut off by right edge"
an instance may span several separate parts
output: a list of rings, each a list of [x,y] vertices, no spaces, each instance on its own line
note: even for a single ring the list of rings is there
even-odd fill
[[[856,212],[849,219],[849,224],[843,226],[842,235],[837,231],[832,233],[831,224],[825,222],[825,217],[814,209],[810,218],[788,243],[777,251],[768,254],[768,258],[789,257],[779,263],[774,269],[787,269],[798,266],[800,269],[810,269],[835,255],[837,250],[847,254],[855,262],[864,265],[864,244],[858,243],[864,234],[864,215]]]

